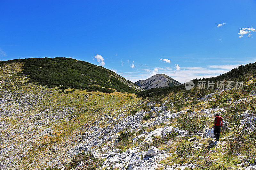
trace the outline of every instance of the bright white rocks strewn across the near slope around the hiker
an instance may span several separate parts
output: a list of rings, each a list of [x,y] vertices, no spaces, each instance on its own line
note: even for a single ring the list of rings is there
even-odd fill
[[[239,102],[239,101],[238,101]],[[209,118],[209,121],[213,121],[214,118],[214,114],[219,113],[220,111],[224,110],[223,108],[210,108],[210,109],[203,109],[200,110],[197,113],[194,114],[199,114],[199,113],[203,113],[203,116],[206,116]],[[110,132],[108,133],[108,135],[106,135],[106,139],[108,139],[108,137],[111,137],[112,140],[116,140],[116,135],[115,133],[124,129],[125,127],[127,127],[127,125],[130,125],[132,128],[131,130],[139,130],[140,127],[142,126],[150,126],[150,125],[154,125],[154,124],[158,124],[159,122],[168,122],[171,118],[174,117],[178,117],[180,114],[182,114],[184,111],[178,112],[178,113],[172,113],[170,111],[162,111],[159,113],[159,116],[157,116],[156,118],[152,118],[150,120],[150,122],[145,122],[143,124],[139,123],[141,121],[141,117],[145,114],[145,112],[138,112],[133,116],[127,116],[125,118],[122,119],[121,122],[119,122],[118,124],[116,124],[113,129],[115,129],[115,131],[113,130],[113,132],[110,130]],[[193,114],[191,114],[190,116],[192,116]],[[242,115],[244,116],[242,123],[244,123],[244,125],[247,127],[247,129],[250,129],[251,131],[253,131],[255,129],[255,127],[250,124],[250,120],[252,119],[256,119],[255,117],[252,117],[248,114],[248,111],[244,111],[244,114]],[[115,121],[115,119],[114,119]],[[223,121],[224,125],[223,127],[226,127],[228,125],[228,122]],[[145,137],[144,141],[146,142],[152,142],[152,136],[164,136],[167,133],[171,133],[172,131],[176,131],[180,134],[180,136],[190,136],[191,138],[188,140],[191,140],[194,142],[194,147],[203,147],[203,142],[207,141],[207,140],[212,140],[212,138],[214,138],[213,135],[213,128],[205,128],[203,129],[201,132],[197,132],[196,134],[199,135],[201,137],[201,139],[198,139],[196,137],[192,137],[193,134],[188,134],[188,131],[186,130],[182,130],[179,128],[173,128],[172,126],[168,126],[168,123],[166,124],[166,126],[164,128],[158,128],[156,130],[153,130],[150,133],[146,133],[146,134],[141,134],[137,137],[133,138],[133,141],[136,141],[138,138],[140,137]],[[96,133],[95,137],[97,139],[97,136],[103,135],[106,131],[105,130],[101,130],[101,129],[97,129],[97,132],[100,133]],[[225,149],[224,146],[226,144],[225,139],[230,138],[231,136],[228,137],[224,137],[220,142],[215,142],[212,143],[212,146],[216,146],[215,149],[222,149],[223,153],[222,154],[227,154],[225,153]],[[102,143],[104,143],[106,141],[106,139],[100,139],[98,141],[94,141],[96,143],[94,143],[94,145],[101,145]],[[158,150],[156,147],[152,147],[150,149],[148,149],[148,151],[141,151],[140,147],[134,147],[134,148],[129,148],[126,152],[120,152],[120,149],[112,149],[112,150],[107,150],[104,153],[100,153],[97,150],[91,150],[88,149],[86,146],[88,146],[88,141],[87,138],[85,138],[86,144],[82,144],[76,147],[76,151],[78,150],[85,150],[85,151],[94,151],[94,155],[95,157],[99,158],[99,159],[104,159],[107,158],[104,162],[103,162],[103,166],[101,168],[106,168],[106,169],[110,169],[110,168],[118,168],[118,169],[126,169],[128,168],[130,169],[136,169],[136,170],[141,170],[141,169],[157,169],[159,167],[163,167],[163,169],[165,170],[172,170],[172,169],[185,169],[185,168],[193,168],[193,164],[173,164],[172,166],[167,165],[167,166],[163,166],[163,163],[161,163],[162,160],[168,158],[168,157],[172,157],[172,155],[174,153],[168,153],[164,150]],[[98,143],[99,142],[99,143]],[[93,143],[93,141],[92,141]],[[91,145],[92,145],[91,143]],[[84,147],[85,146],[85,147]],[[107,148],[103,148],[103,149],[107,149]],[[79,153],[79,151],[77,152]],[[244,166],[244,162],[246,163],[246,160],[243,159],[244,156],[240,155],[239,156],[241,159],[241,164],[239,164],[238,166],[241,166],[241,168],[238,169],[245,169]],[[216,161],[218,161],[219,159],[216,159]],[[81,167],[83,167],[83,162],[81,162],[76,169],[80,169]],[[100,168],[100,169],[101,169]],[[229,167],[229,169],[233,169],[234,167]],[[250,169],[256,169],[256,166],[254,166],[253,164],[250,165],[249,167]],[[64,168],[63,168],[64,169]],[[235,168],[234,168],[235,169]]]

